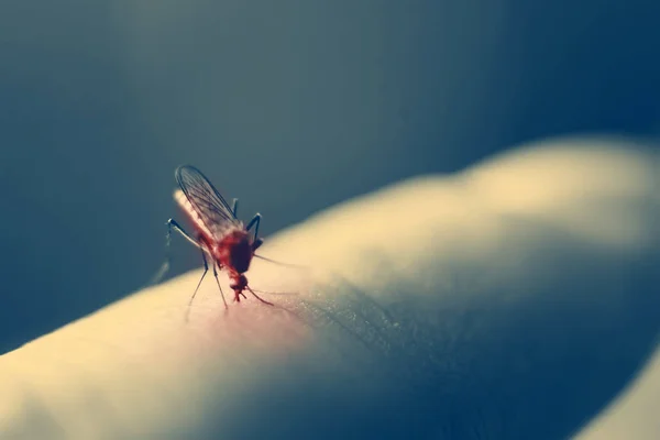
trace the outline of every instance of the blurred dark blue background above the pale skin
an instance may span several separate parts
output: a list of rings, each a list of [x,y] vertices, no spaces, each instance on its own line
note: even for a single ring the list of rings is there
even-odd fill
[[[148,280],[182,163],[270,234],[515,143],[657,134],[658,16],[650,0],[2,2],[0,352]],[[175,274],[200,264],[173,254]]]

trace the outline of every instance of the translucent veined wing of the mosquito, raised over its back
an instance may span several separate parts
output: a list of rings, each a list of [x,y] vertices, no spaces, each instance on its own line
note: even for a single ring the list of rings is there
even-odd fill
[[[199,169],[183,165],[176,168],[174,175],[199,220],[215,238],[219,239],[230,228],[242,227],[224,197]]]

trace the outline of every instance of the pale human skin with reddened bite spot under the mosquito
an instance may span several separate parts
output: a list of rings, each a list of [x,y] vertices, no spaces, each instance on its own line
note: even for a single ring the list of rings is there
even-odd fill
[[[195,271],[0,356],[0,438],[659,438],[658,164],[554,141],[332,208],[260,249],[304,266],[253,262],[276,307],[188,310]]]

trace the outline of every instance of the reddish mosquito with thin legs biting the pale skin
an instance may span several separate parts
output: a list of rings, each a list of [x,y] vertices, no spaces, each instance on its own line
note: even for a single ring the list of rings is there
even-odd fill
[[[186,232],[174,219],[167,220],[167,255],[169,255],[172,231],[176,231],[201,251],[201,258],[204,261],[204,273],[199,283],[197,283],[188,306],[193,304],[197,290],[201,286],[201,282],[209,272],[207,257],[212,262],[213,276],[216,277],[216,283],[220,289],[226,308],[229,308],[229,306],[218,279],[218,271],[222,270],[226,270],[229,274],[229,286],[234,292],[234,301],[240,302],[241,296],[246,298],[243,290],[248,289],[263,304],[273,306],[272,302],[266,301],[250,288],[248,278],[245,277],[245,272],[250,268],[250,263],[254,256],[270,260],[254,254],[254,251],[263,243],[263,240],[258,237],[261,215],[257,212],[248,226],[244,226],[237,218],[239,199],[233,199],[230,207],[222,195],[199,169],[190,165],[182,165],[176,168],[174,175],[179,186],[179,189],[174,191],[174,199],[190,220],[195,235]],[[253,228],[254,232],[251,233],[250,231]],[[169,266],[168,260],[169,257],[167,256],[164,270]],[[164,273],[163,270],[162,272]]]

